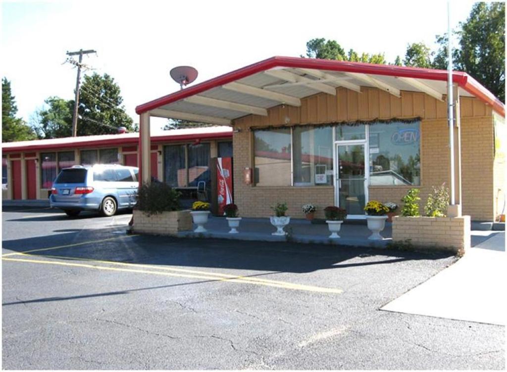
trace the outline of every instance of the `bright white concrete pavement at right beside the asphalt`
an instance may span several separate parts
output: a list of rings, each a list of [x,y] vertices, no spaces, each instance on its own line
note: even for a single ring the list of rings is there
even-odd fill
[[[381,310],[505,325],[505,233],[489,233],[454,265]]]

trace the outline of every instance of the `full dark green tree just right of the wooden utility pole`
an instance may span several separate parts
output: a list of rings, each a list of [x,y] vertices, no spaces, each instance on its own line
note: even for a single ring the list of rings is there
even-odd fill
[[[117,133],[118,127],[133,131],[132,118],[122,103],[120,87],[110,75],[85,76],[79,97],[78,135]]]

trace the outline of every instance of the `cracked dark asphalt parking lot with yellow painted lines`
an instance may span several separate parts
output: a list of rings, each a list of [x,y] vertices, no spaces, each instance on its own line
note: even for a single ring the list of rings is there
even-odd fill
[[[384,304],[448,255],[128,236],[3,210],[4,369],[502,369],[502,326]]]

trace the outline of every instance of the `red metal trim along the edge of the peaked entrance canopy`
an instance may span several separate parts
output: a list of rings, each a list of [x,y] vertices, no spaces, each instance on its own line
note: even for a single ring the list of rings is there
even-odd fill
[[[365,73],[371,75],[384,75],[390,77],[405,77],[414,79],[425,79],[434,81],[447,81],[446,70],[436,70],[430,68],[403,67],[393,65],[380,65],[360,62],[334,61],[326,59],[299,58],[299,57],[280,57],[275,56],[263,61],[253,63],[240,69],[228,72],[219,77],[207,80],[200,84],[191,86],[169,95],[157,98],[136,107],[136,113],[142,114],[149,110],[161,107],[163,105],[182,100],[184,98],[199,94],[206,90],[246,78],[255,73],[262,72],[274,67],[292,67],[292,68],[311,68],[328,71],[341,71],[352,73]],[[453,82],[459,87],[489,104],[501,116],[505,115],[504,104],[496,98],[490,91],[483,87],[474,78],[466,72],[453,71]]]

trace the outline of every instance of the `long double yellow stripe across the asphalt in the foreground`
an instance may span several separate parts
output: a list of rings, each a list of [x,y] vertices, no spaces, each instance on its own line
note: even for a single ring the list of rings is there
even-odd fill
[[[24,254],[24,255],[30,256],[30,255],[26,255],[26,254]],[[38,257],[43,257],[43,256],[38,256]],[[57,256],[53,256],[53,257],[56,258]],[[342,292],[342,290],[338,289],[338,288],[323,288],[323,287],[316,287],[316,286],[311,286],[311,285],[293,284],[293,283],[288,283],[288,282],[281,282],[281,281],[267,280],[267,279],[261,280],[258,278],[248,278],[248,277],[234,276],[234,275],[220,274],[220,273],[206,273],[203,271],[172,269],[172,268],[157,267],[157,266],[151,266],[151,265],[120,263],[120,262],[114,262],[114,261],[98,261],[98,260],[95,261],[92,259],[79,258],[79,257],[62,257],[62,258],[88,261],[88,262],[90,262],[90,264],[78,264],[78,263],[68,263],[68,262],[59,262],[59,261],[46,261],[46,260],[42,260],[42,259],[2,257],[2,259],[4,261],[13,261],[13,262],[27,262],[27,263],[33,263],[33,264],[73,266],[73,267],[82,267],[82,268],[97,269],[97,270],[112,270],[112,271],[131,272],[131,273],[140,273],[140,274],[172,276],[172,277],[180,277],[180,278],[206,279],[206,280],[212,280],[212,281],[228,281],[228,282],[232,282],[232,283],[264,285],[264,286],[269,286],[269,287],[277,287],[277,288],[293,289],[293,290],[304,290],[304,291],[310,291],[310,292],[335,293],[335,294]],[[109,265],[120,265],[120,266],[127,266],[127,267],[150,268],[150,269],[157,269],[157,270],[115,268],[115,267],[94,265],[94,264],[91,264],[91,262],[109,264]],[[163,271],[159,271],[161,269]],[[175,271],[175,272],[171,272],[171,271]]]

